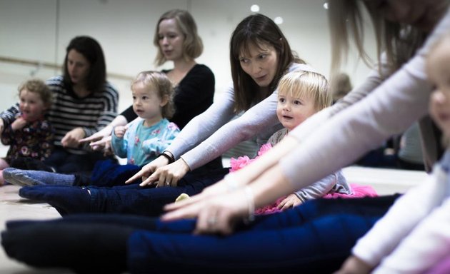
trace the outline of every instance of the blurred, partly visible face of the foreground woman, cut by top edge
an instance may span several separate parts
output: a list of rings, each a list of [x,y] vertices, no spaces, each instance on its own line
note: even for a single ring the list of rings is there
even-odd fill
[[[431,31],[445,12],[446,0],[364,0],[388,21]]]

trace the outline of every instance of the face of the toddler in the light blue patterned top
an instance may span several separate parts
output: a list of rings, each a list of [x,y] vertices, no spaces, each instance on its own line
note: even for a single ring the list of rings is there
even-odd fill
[[[158,92],[153,86],[144,86],[143,83],[137,83],[133,87],[133,110],[137,116],[146,121],[161,120],[161,107],[165,102],[158,96]]]

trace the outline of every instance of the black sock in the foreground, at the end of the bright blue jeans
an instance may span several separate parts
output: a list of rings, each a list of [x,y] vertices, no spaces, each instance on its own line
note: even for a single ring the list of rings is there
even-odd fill
[[[3,231],[1,245],[9,257],[34,267],[123,273],[132,232],[120,225],[36,222]]]

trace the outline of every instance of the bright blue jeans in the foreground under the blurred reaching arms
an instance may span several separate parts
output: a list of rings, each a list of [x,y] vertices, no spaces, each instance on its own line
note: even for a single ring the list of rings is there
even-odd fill
[[[192,235],[195,220],[157,223],[128,240],[131,273],[331,273],[397,196],[318,199],[257,218],[229,236]]]

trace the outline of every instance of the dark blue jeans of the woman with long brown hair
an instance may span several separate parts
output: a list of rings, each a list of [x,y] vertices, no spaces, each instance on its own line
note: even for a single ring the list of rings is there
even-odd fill
[[[176,187],[142,188],[137,183],[111,188],[88,186],[91,192],[90,212],[157,216],[164,205],[173,203],[181,193],[189,196],[198,194],[220,181],[228,172],[229,168],[221,168],[204,174],[188,173]]]

